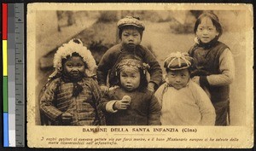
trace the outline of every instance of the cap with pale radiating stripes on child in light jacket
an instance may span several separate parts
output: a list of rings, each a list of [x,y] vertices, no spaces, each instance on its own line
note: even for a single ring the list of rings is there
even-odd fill
[[[170,70],[182,70],[191,67],[193,61],[193,58],[188,53],[176,52],[166,58],[164,67]]]

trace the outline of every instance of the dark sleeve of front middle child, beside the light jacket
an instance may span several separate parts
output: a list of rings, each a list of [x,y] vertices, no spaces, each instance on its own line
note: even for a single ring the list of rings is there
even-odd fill
[[[160,103],[152,93],[148,108],[148,125],[160,125]]]

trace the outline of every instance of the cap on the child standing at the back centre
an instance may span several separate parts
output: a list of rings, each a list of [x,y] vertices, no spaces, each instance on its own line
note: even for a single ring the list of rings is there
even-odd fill
[[[137,26],[138,28],[145,29],[143,21],[141,21],[138,17],[133,17],[127,15],[125,18],[119,20],[118,28],[120,29],[123,26]]]

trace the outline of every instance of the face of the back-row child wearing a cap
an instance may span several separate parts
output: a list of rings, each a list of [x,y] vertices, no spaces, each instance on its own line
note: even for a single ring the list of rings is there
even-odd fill
[[[134,28],[124,29],[121,35],[121,43],[129,48],[135,48],[141,44],[141,34]]]

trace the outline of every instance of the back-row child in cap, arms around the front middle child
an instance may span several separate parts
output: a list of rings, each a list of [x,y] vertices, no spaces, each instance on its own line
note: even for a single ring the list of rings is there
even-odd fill
[[[108,92],[107,81],[110,87],[117,84],[118,79],[114,73],[115,67],[119,61],[126,58],[137,59],[149,65],[150,80],[148,90],[154,91],[162,80],[162,71],[154,55],[147,48],[140,45],[145,29],[143,22],[138,18],[126,16],[124,19],[119,20],[118,28],[121,43],[108,49],[98,65],[97,78],[102,92]]]

